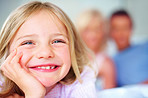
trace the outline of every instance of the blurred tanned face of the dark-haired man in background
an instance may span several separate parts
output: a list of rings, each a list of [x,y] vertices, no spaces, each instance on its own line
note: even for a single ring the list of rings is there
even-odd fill
[[[117,44],[118,50],[122,51],[130,46],[131,21],[127,16],[114,16],[110,22],[111,37]]]

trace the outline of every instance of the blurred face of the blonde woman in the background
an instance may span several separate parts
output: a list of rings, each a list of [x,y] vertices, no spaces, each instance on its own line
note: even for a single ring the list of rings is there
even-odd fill
[[[88,48],[97,53],[102,43],[103,33],[103,24],[98,22],[97,18],[93,18],[81,36]]]

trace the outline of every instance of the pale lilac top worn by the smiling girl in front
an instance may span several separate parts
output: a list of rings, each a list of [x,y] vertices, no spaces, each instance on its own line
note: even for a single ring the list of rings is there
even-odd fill
[[[96,98],[94,71],[86,66],[81,79],[82,84],[78,80],[71,85],[57,84],[45,98]]]

